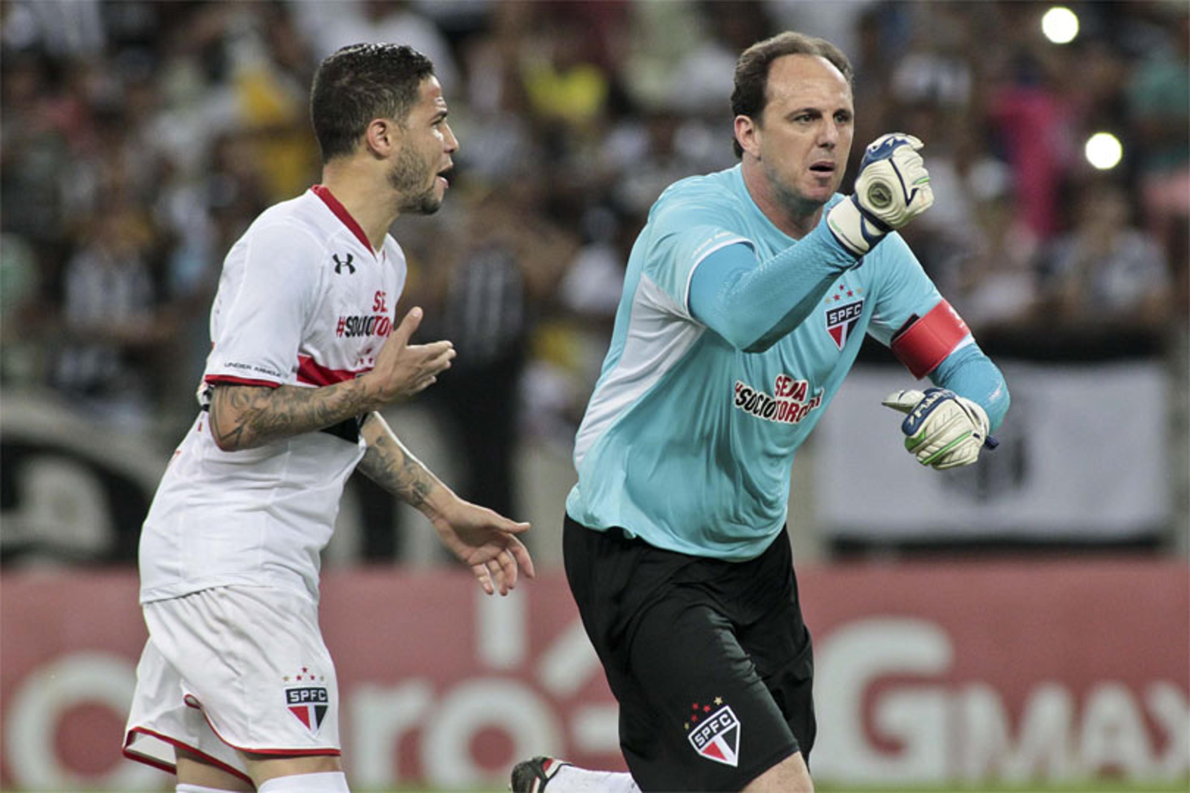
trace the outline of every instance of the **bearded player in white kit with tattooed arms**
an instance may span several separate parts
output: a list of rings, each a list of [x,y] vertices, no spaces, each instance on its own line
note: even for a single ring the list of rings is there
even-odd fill
[[[394,321],[406,262],[388,234],[443,201],[446,113],[411,48],[331,55],[311,92],[321,184],[262,213],[224,263],[202,410],[140,539],[149,642],[124,751],[176,772],[180,793],[349,789],[318,572],[357,467],[420,509],[489,594],[533,574],[528,524],[461,499],[376,413],[455,357],[409,344],[419,308]]]

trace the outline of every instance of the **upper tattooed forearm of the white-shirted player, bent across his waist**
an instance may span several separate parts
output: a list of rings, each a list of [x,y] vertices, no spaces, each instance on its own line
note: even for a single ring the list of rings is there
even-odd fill
[[[344,388],[349,385],[217,385],[211,397],[211,430],[219,448],[227,452],[317,432],[367,410],[359,390]]]

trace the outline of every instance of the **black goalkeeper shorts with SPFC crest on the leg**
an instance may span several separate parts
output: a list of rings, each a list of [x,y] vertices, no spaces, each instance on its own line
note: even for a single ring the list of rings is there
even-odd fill
[[[795,751],[809,759],[813,649],[784,531],[729,562],[566,516],[563,552],[643,791],[740,791]]]

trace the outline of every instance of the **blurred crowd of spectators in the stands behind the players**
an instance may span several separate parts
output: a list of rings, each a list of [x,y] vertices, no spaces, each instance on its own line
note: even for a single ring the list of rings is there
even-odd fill
[[[193,420],[223,257],[319,178],[308,87],[359,40],[428,55],[461,140],[443,209],[402,218],[403,313],[449,338],[426,405],[507,509],[512,447],[568,447],[627,251],[670,182],[733,165],[739,52],[782,30],[856,65],[856,147],[926,143],[937,202],[904,232],[984,348],[1167,355],[1183,377],[1190,11],[794,0],[0,5],[2,388],[52,389],[170,448]],[[1095,132],[1123,144],[1096,170]]]

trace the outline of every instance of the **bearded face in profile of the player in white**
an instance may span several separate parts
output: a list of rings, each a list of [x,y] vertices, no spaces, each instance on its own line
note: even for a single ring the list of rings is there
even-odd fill
[[[401,213],[438,212],[450,187],[446,172],[453,168],[451,155],[456,151],[458,140],[446,124],[441,86],[436,77],[428,77],[401,127],[401,150],[388,172]]]

